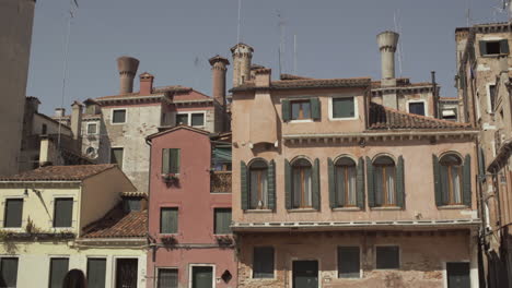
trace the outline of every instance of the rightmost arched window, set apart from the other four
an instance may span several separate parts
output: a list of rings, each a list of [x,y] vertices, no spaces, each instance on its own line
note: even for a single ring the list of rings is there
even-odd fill
[[[446,154],[439,160],[443,202],[449,205],[462,204],[463,161],[455,154]]]

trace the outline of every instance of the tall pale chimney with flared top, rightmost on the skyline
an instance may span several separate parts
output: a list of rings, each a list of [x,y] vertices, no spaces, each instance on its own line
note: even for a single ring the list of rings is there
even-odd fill
[[[398,33],[385,31],[377,35],[381,50],[382,86],[395,86],[395,51],[398,44]]]

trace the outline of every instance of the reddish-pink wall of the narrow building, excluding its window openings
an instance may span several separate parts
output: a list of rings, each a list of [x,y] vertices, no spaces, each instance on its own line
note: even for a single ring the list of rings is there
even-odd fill
[[[178,286],[191,287],[194,266],[211,266],[212,287],[236,287],[236,262],[232,244],[221,245],[214,233],[214,209],[231,208],[231,193],[211,193],[211,142],[202,130],[177,127],[149,137],[151,141],[148,287],[158,287],[159,268],[177,269]],[[178,183],[162,180],[162,149],[181,149]],[[231,191],[230,191],[231,192]],[[177,232],[162,235],[162,207],[178,209]],[[173,244],[162,237],[174,237]],[[223,235],[231,238],[230,235]],[[222,275],[231,274],[225,281]]]

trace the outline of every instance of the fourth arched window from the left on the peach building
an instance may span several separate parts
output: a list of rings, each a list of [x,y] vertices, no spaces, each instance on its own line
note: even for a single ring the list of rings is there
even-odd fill
[[[396,167],[388,156],[380,156],[373,161],[375,204],[396,206]]]

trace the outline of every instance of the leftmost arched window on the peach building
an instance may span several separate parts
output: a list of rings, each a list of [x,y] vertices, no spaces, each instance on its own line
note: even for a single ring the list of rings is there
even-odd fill
[[[253,161],[249,166],[249,208],[268,207],[268,165],[263,159]]]

